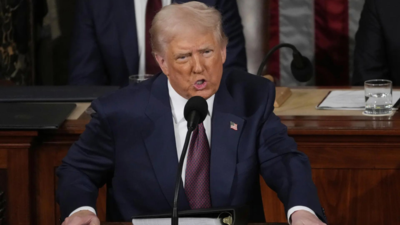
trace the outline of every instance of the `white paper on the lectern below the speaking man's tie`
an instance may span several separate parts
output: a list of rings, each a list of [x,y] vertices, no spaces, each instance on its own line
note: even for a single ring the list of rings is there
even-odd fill
[[[171,225],[171,218],[132,219],[133,225]],[[218,218],[179,218],[179,225],[223,225]]]

